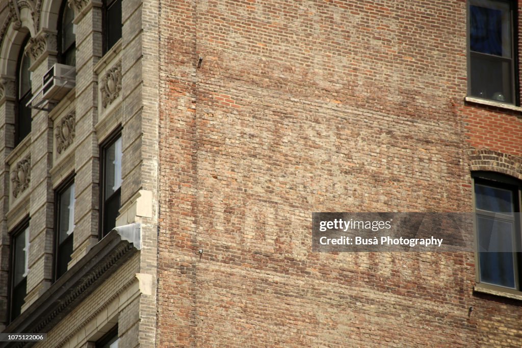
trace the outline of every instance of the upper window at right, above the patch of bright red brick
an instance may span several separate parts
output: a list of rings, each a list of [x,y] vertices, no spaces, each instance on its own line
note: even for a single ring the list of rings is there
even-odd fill
[[[514,15],[506,0],[469,0],[468,93],[515,104]]]

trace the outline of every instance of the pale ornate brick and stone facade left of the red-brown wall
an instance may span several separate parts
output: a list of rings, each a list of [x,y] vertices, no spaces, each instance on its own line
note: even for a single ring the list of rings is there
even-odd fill
[[[74,10],[76,87],[56,105],[43,103],[40,106],[45,110],[33,109],[31,133],[15,147],[15,83],[17,60],[23,49],[21,43],[29,35],[27,54],[31,59],[32,92],[37,95],[32,105],[37,105],[42,100],[38,91],[43,75],[57,62],[61,6]],[[0,185],[0,326],[8,331],[23,325],[20,318],[9,323],[6,316],[9,245],[11,231],[29,216],[27,296],[20,317],[29,314],[27,321],[32,320],[31,315],[37,316],[45,306],[42,299],[52,301],[51,293],[60,282],[64,284],[62,288],[70,287],[80,294],[61,295],[72,301],[72,308],[59,309],[58,312],[61,310],[66,315],[58,314],[58,321],[56,316],[51,316],[54,322],[52,327],[47,327],[48,339],[37,346],[91,346],[116,324],[122,346],[155,346],[158,3],[123,1],[122,38],[105,54],[102,54],[101,1],[70,0],[65,5],[60,0],[3,1],[0,7],[3,24],[0,153],[5,161],[4,184]],[[108,76],[113,79],[117,92],[103,89]],[[68,127],[67,138],[58,134],[63,127]],[[111,254],[107,249],[108,263],[97,269],[96,264],[89,264],[87,259],[95,252],[100,254],[100,144],[118,129],[121,129],[124,159],[121,208],[116,226],[139,224],[136,226],[139,226],[140,237],[139,242],[132,239],[134,247],[121,249],[126,238],[122,232],[118,237],[122,242],[117,248],[123,251]],[[74,136],[70,136],[72,131]],[[30,183],[15,197],[10,178],[26,158],[30,159]],[[68,263],[69,272],[55,282],[55,192],[72,175],[75,183],[72,260]],[[133,256],[121,259],[126,250],[134,250]],[[113,264],[117,264],[115,270]],[[70,275],[80,274],[89,267],[92,271],[84,278]],[[97,283],[86,287],[89,282]]]

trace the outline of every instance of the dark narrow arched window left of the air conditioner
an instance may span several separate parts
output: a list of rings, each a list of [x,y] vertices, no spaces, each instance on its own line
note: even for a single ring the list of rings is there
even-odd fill
[[[15,118],[15,146],[18,145],[26,136],[31,133],[31,108],[26,104],[31,100],[31,78],[32,73],[29,71],[31,62],[28,56],[23,52],[29,37],[22,44],[18,57],[17,69],[17,91],[16,91],[16,118]]]

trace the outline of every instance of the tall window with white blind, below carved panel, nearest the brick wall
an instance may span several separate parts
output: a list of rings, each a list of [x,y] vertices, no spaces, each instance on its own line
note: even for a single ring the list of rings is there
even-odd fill
[[[120,209],[122,185],[122,137],[117,134],[102,145],[102,202],[101,202],[101,237],[103,238],[116,225]]]

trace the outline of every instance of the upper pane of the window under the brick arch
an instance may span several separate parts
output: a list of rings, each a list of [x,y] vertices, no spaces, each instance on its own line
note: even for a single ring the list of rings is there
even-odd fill
[[[487,185],[475,185],[477,209],[493,213],[513,213],[513,192]],[[512,215],[512,214],[510,214]]]

